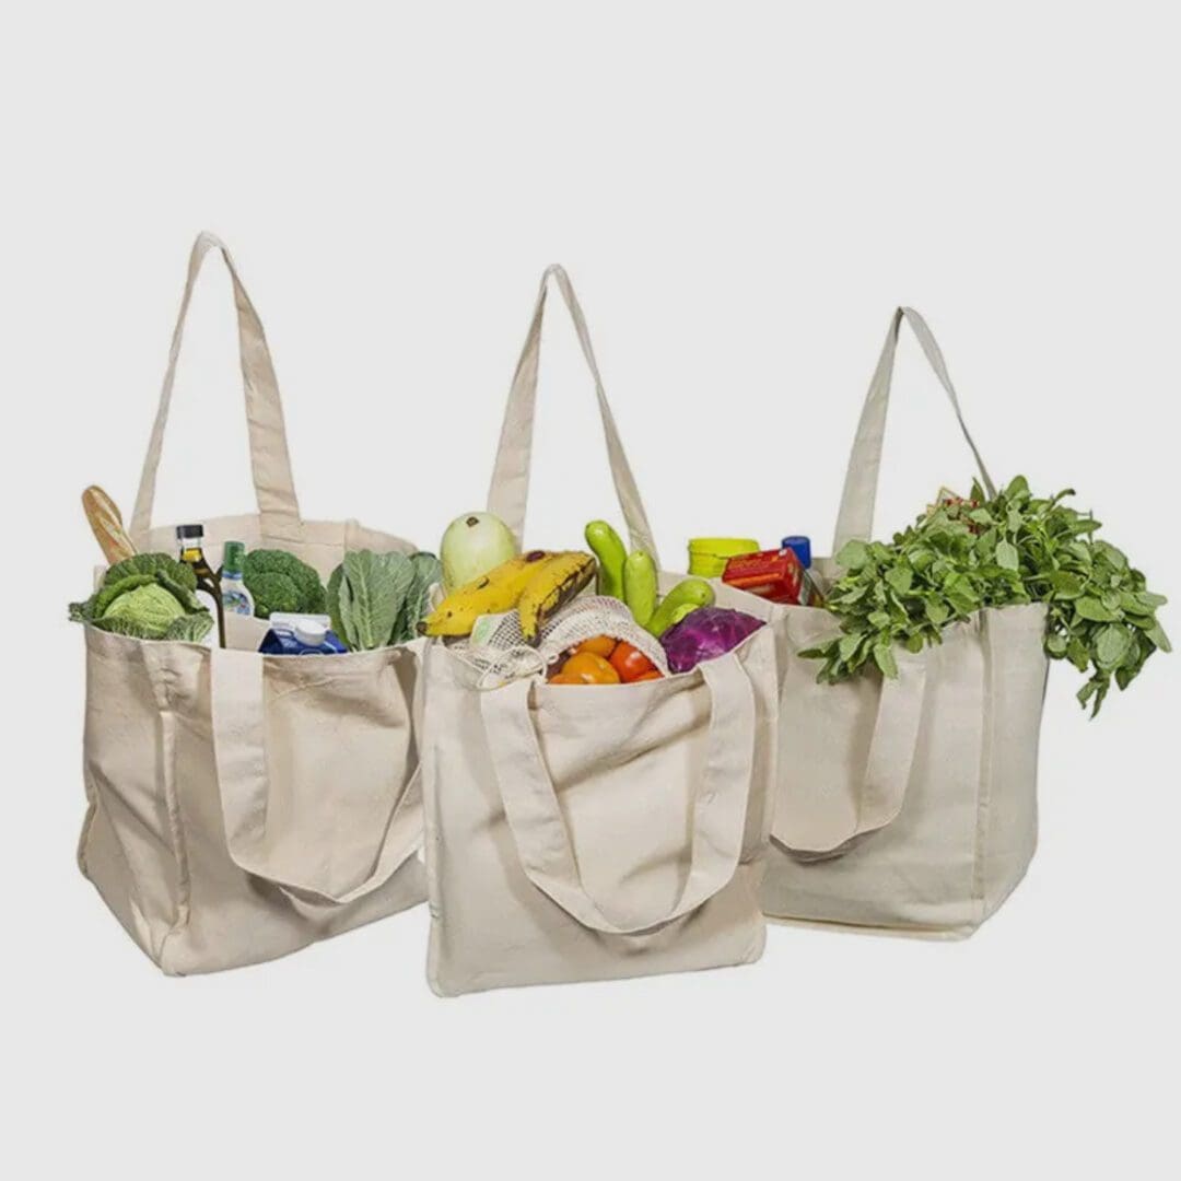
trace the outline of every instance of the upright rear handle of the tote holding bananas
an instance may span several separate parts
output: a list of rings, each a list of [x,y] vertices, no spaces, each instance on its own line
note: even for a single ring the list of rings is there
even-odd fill
[[[513,530],[518,546],[524,544],[524,515],[529,500],[529,461],[533,454],[533,428],[537,403],[537,366],[541,357],[541,324],[546,311],[546,294],[549,280],[553,279],[562,293],[566,307],[569,309],[574,329],[582,346],[590,376],[594,378],[595,396],[599,399],[599,417],[602,419],[602,433],[607,441],[607,458],[611,463],[611,477],[615,484],[615,495],[624,513],[624,521],[631,537],[633,549],[647,550],[660,567],[652,529],[648,526],[644,504],[640,501],[635,477],[632,475],[624,444],[620,442],[615,419],[612,417],[607,394],[602,387],[602,377],[590,347],[590,334],[587,332],[586,318],[579,306],[578,296],[570,286],[569,276],[559,267],[547,267],[541,276],[541,291],[537,293],[537,305],[534,308],[533,322],[526,337],[521,359],[517,361],[509,400],[504,410],[504,423],[501,428],[501,443],[496,452],[496,464],[492,469],[492,482],[488,490],[488,511],[495,513]]]

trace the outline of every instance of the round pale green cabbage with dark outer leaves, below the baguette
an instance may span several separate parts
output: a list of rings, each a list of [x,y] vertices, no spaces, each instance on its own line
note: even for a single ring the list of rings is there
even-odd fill
[[[70,618],[139,640],[197,642],[214,621],[195,588],[193,570],[168,554],[137,554],[112,566],[85,602],[71,603]]]

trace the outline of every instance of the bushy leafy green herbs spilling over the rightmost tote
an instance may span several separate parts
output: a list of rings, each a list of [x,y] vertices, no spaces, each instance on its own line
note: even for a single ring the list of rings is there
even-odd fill
[[[1062,503],[1072,495],[1035,497],[1018,476],[987,500],[973,484],[968,500],[941,500],[892,543],[850,541],[836,555],[848,573],[827,600],[842,634],[802,654],[823,660],[821,681],[869,666],[896,677],[895,644],[919,652],[981,607],[1044,602],[1045,651],[1090,673],[1078,699],[1094,717],[1113,680],[1127,689],[1170,646],[1156,619],[1164,596],[1094,536],[1098,521]]]

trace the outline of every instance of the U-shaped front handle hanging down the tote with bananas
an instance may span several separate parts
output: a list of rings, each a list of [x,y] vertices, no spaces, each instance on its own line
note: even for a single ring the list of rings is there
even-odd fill
[[[710,692],[710,723],[705,766],[693,792],[690,868],[677,901],[654,913],[640,913],[626,899],[592,898],[583,883],[529,712],[534,681],[514,681],[479,696],[521,867],[537,889],[593,931],[634,935],[661,927],[711,899],[738,867],[755,769],[755,691],[735,652],[698,671]],[[583,690],[596,691],[611,692]]]

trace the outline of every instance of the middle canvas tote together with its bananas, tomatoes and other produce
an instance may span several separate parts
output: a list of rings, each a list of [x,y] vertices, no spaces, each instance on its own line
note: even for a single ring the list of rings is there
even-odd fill
[[[631,553],[602,522],[587,527],[594,554],[523,543],[550,279],[594,377]],[[488,510],[515,553],[496,549],[495,565],[476,568],[444,554],[444,568],[470,581],[446,587],[424,621],[436,637],[422,730],[431,986],[456,994],[757,959],[776,752],[775,645],[761,626],[770,609],[725,651],[683,640],[692,667],[670,667],[653,631],[661,592],[660,628],[674,616],[686,625],[702,590],[713,595],[658,569],[560,268],[542,280]],[[488,531],[487,520],[471,521]],[[748,598],[724,588],[716,606]]]

